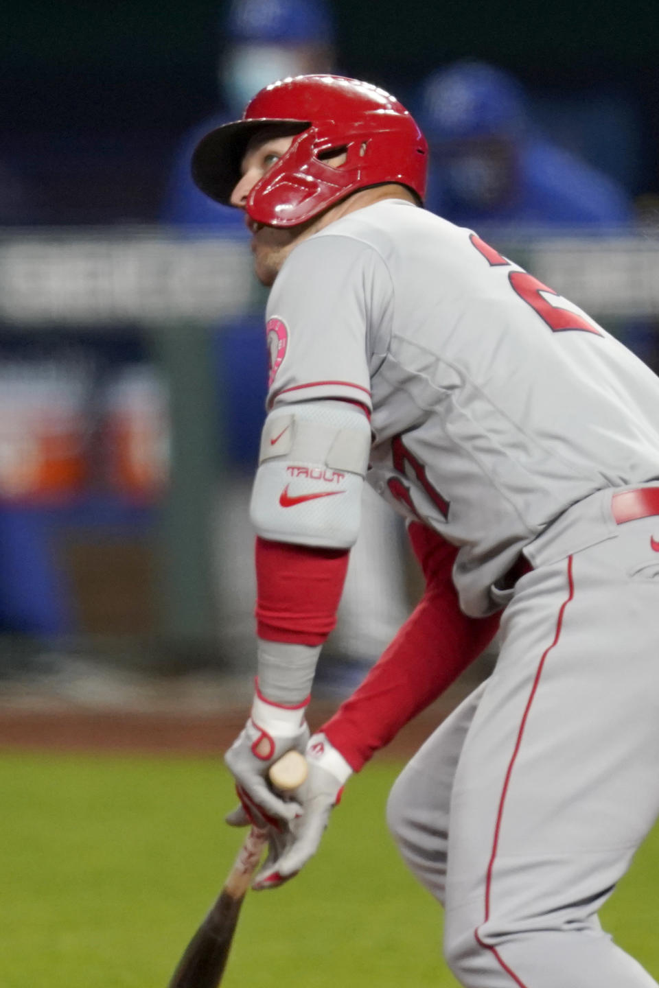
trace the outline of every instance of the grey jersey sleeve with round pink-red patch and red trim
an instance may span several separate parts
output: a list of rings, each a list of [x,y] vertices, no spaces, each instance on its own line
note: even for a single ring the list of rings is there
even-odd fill
[[[369,338],[390,294],[368,244],[317,234],[296,246],[268,302],[268,407],[338,398],[371,412]]]

